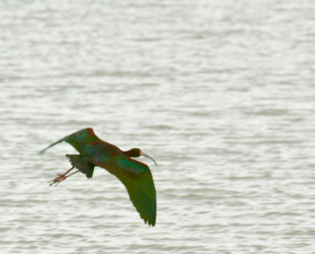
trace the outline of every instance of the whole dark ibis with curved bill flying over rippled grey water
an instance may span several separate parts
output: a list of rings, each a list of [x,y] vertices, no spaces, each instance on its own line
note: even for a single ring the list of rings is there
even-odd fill
[[[92,178],[95,166],[105,168],[125,185],[130,200],[145,223],[148,222],[149,225],[155,225],[156,192],[151,171],[146,164],[131,158],[143,155],[152,159],[150,156],[143,153],[139,148],[133,148],[126,152],[121,151],[117,146],[99,139],[92,128],[79,130],[66,136],[46,147],[40,153],[62,141],[72,145],[80,154],[66,154],[72,168],[51,180],[50,182],[52,183],[50,185],[57,185],[78,171],[85,174],[87,178]],[[153,159],[152,161],[156,164]],[[73,168],[78,170],[66,175]]]

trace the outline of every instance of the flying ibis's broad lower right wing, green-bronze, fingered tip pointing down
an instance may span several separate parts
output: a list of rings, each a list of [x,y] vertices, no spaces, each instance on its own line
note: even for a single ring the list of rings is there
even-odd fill
[[[125,155],[115,156],[106,163],[93,163],[105,168],[125,185],[130,200],[145,223],[154,226],[156,220],[156,191],[149,167]]]

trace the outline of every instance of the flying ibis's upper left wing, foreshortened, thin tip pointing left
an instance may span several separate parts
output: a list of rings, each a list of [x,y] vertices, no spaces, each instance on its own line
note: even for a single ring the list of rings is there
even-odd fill
[[[92,128],[86,128],[83,130],[79,130],[75,133],[72,133],[71,135],[68,135],[57,142],[54,142],[50,146],[46,147],[39,153],[44,153],[48,148],[61,143],[61,142],[67,142],[70,145],[72,145],[78,152],[88,154],[89,150],[91,149],[90,143],[93,141],[100,141],[100,139],[95,135]],[[92,152],[92,151],[91,151]]]

